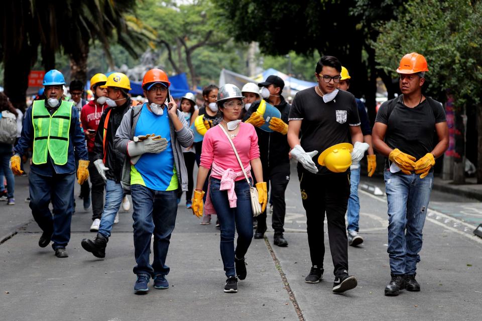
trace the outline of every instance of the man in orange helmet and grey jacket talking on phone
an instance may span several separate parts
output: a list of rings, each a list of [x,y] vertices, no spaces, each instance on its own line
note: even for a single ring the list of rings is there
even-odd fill
[[[122,184],[131,190],[134,212],[134,252],[137,265],[135,293],[167,289],[167,252],[177,215],[178,190],[187,191],[188,177],[182,147],[193,142],[193,132],[169,96],[171,83],[160,69],[151,69],[142,81],[148,102],[126,113],[115,136],[119,152],[127,154]],[[150,264],[154,234],[154,262]]]

